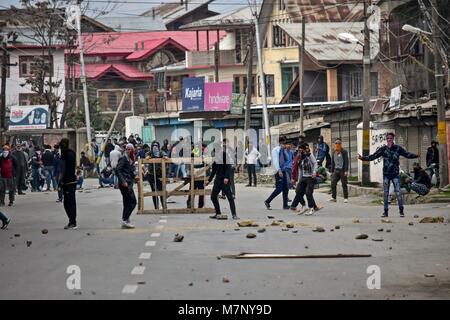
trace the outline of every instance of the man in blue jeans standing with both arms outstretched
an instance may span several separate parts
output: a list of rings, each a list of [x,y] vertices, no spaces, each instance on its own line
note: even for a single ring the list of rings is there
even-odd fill
[[[383,218],[388,216],[389,212],[389,185],[394,184],[394,191],[397,195],[398,208],[400,210],[400,217],[404,217],[403,196],[400,191],[400,156],[407,159],[416,159],[419,156],[406,151],[401,146],[394,144],[395,134],[386,134],[386,145],[375,151],[374,154],[362,157],[358,154],[358,159],[362,161],[373,161],[383,157],[383,192],[384,192],[384,213]]]

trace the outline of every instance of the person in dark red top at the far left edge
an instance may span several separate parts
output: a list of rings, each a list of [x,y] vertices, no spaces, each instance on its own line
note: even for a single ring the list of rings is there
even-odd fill
[[[17,163],[16,159],[11,156],[9,152],[9,146],[3,146],[3,152],[0,157],[0,206],[5,205],[6,191],[9,193],[9,204],[12,206],[14,203],[14,196],[16,193],[16,184],[14,177],[16,176]]]

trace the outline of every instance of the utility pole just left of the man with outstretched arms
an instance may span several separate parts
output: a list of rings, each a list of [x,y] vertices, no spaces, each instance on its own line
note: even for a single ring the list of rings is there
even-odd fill
[[[363,156],[368,156],[370,153],[370,31],[367,25],[367,2],[364,0],[364,46],[363,46]],[[370,184],[370,163],[363,161],[362,163],[362,186]]]

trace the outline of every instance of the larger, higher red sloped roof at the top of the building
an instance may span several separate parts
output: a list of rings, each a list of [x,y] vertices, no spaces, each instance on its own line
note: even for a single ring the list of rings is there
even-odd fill
[[[219,31],[219,40],[225,36],[225,31]],[[152,32],[107,32],[84,34],[84,53],[86,55],[119,55],[128,56],[135,51],[144,48],[148,41],[162,38],[171,38],[187,50],[197,50],[197,38],[195,31],[152,31]],[[199,32],[199,49],[207,50],[206,32]],[[209,32],[209,46],[217,42],[217,33]],[[156,43],[156,41],[155,41]],[[137,44],[137,50],[136,48]]]

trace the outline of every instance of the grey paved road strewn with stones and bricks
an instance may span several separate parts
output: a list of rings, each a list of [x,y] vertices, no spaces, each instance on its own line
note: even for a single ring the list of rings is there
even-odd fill
[[[266,228],[237,228],[233,220],[216,221],[206,214],[132,216],[134,230],[121,230],[119,191],[96,189],[77,193],[79,229],[67,223],[55,193],[20,196],[13,208],[2,208],[13,219],[0,230],[0,299],[449,299],[450,226],[419,224],[414,215],[450,216],[446,204],[406,207],[406,218],[380,221],[380,206],[369,198],[327,203],[317,215],[296,216],[267,211],[262,201],[270,188],[237,186],[238,215]],[[293,198],[291,194],[291,198]],[[185,204],[177,198],[174,207]],[[147,200],[148,205],[151,199]],[[208,201],[211,205],[210,201]],[[221,200],[229,213],[227,201]],[[396,213],[397,210],[391,210]],[[267,215],[296,227],[282,231]],[[358,218],[359,223],[353,223]],[[410,226],[408,223],[413,222]],[[339,230],[331,231],[336,225]],[[325,232],[313,232],[316,226]],[[41,233],[48,229],[48,234]],[[377,229],[383,228],[383,232]],[[392,232],[387,233],[386,229]],[[297,231],[296,233],[292,232]],[[255,239],[246,234],[254,232]],[[174,234],[185,236],[173,242]],[[355,240],[359,233],[367,240]],[[20,234],[19,237],[15,235]],[[382,238],[375,242],[372,238]],[[26,242],[31,241],[28,247]],[[295,254],[372,254],[371,258],[236,260],[218,259],[240,252]],[[69,290],[67,267],[81,270],[81,289]],[[367,288],[367,268],[381,271],[381,289]],[[433,274],[434,277],[425,277]],[[223,282],[223,277],[229,279]]]

